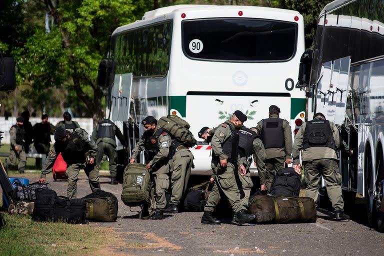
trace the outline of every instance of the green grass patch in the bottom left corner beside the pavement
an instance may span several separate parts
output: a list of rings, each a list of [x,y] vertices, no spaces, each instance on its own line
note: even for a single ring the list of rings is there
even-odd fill
[[[110,229],[0,212],[0,255],[84,255],[112,243]]]

